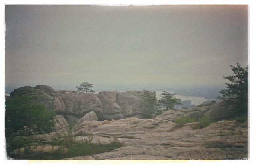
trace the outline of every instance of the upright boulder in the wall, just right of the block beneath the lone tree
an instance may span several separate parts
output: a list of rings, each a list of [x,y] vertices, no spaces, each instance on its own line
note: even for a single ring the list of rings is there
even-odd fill
[[[124,119],[122,108],[116,103],[118,92],[99,92],[97,95],[102,104],[103,119]]]

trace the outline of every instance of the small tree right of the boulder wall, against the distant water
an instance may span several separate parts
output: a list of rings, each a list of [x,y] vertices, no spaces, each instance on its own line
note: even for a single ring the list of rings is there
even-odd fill
[[[174,109],[174,105],[182,105],[180,99],[176,99],[174,97],[175,94],[168,93],[166,91],[163,91],[163,93],[160,95],[161,99],[159,99],[158,103],[160,103],[163,107],[165,107],[165,110],[168,109]]]

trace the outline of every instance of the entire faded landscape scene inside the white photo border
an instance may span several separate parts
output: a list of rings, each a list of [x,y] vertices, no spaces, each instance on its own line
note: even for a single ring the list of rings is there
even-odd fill
[[[8,160],[248,159],[248,6],[6,5]]]

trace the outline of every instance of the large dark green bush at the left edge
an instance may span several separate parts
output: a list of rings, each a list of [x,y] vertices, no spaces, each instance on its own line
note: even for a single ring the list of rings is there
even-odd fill
[[[5,133],[8,138],[15,132],[23,135],[51,132],[54,127],[54,111],[46,111],[44,105],[32,104],[35,97],[20,95],[6,100]]]

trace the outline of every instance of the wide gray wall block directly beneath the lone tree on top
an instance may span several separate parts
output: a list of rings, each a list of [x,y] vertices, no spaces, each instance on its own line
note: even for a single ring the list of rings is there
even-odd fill
[[[57,91],[64,101],[65,112],[76,117],[83,117],[94,111],[99,119],[102,118],[100,99],[93,93],[77,93],[76,91]]]

